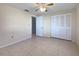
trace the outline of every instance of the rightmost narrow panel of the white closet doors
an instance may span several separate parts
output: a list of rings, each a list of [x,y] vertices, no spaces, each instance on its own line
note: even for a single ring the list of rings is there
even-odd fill
[[[71,20],[72,20],[72,14],[66,14],[65,15],[65,27],[66,27],[66,38],[68,40],[71,40]]]

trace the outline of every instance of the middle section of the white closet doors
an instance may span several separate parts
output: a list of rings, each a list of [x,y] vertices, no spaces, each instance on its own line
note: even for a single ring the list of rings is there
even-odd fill
[[[59,15],[59,32],[60,32],[60,37],[62,39],[66,39],[66,27],[65,27],[65,15]]]

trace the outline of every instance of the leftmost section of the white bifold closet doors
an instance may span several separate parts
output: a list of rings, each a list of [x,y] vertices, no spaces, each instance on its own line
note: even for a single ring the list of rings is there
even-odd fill
[[[51,36],[59,37],[58,16],[52,16],[51,19]]]

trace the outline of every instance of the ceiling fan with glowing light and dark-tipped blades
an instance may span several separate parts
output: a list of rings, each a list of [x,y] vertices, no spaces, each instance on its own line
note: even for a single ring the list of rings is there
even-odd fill
[[[53,5],[54,3],[35,3],[36,8],[34,11],[47,12],[48,8]],[[30,12],[28,9],[25,9],[24,11]]]

